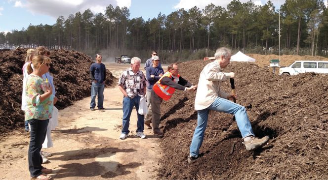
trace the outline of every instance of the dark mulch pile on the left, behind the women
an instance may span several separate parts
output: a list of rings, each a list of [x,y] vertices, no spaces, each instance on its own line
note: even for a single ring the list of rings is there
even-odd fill
[[[24,124],[21,110],[23,89],[22,67],[26,49],[0,51],[0,134]],[[89,56],[68,50],[51,51],[50,73],[56,89],[58,109],[72,105],[74,101],[90,96],[89,68],[93,62]],[[111,86],[116,78],[106,72],[105,84]]]

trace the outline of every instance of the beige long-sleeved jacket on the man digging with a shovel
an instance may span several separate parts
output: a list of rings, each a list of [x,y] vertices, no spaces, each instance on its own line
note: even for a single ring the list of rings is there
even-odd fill
[[[218,97],[228,99],[228,94],[220,90],[221,81],[230,79],[229,73],[221,72],[217,60],[205,65],[200,74],[195,98],[195,110],[203,110]]]

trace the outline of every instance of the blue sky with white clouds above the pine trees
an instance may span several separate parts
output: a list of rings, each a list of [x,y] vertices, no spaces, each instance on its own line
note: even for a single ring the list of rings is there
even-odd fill
[[[203,9],[213,3],[226,7],[231,0],[1,0],[0,1],[0,32],[22,30],[30,24],[53,25],[59,16],[66,19],[69,14],[75,14],[90,8],[95,13],[104,13],[106,6],[126,6],[130,10],[130,19],[140,17],[147,21],[157,17],[161,12],[168,15],[180,8],[188,10],[193,6]],[[240,0],[246,2],[248,0]],[[257,5],[264,5],[267,0],[252,0]],[[278,3],[285,0],[271,0],[276,9]],[[326,0],[327,5],[327,0]]]

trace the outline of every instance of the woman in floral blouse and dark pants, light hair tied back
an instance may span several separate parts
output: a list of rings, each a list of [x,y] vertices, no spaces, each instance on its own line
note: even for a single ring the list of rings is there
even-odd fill
[[[34,70],[32,69],[32,64]],[[47,86],[42,79],[42,74],[49,71],[50,59],[46,56],[34,56],[32,63],[27,66],[30,74],[26,83],[26,110],[25,121],[31,125],[31,139],[29,147],[29,170],[30,176],[39,180],[49,180],[51,169],[41,166],[42,158],[40,150],[45,138],[47,125],[51,118],[53,108],[53,94],[51,86]]]

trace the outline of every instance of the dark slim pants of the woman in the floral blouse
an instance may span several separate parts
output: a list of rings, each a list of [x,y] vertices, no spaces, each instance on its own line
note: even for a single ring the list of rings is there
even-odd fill
[[[30,146],[28,152],[29,158],[29,171],[31,177],[38,177],[42,174],[41,170],[43,167],[42,157],[40,154],[40,150],[42,148],[42,143],[45,139],[45,134],[47,132],[47,126],[49,123],[48,120],[37,120],[31,119],[28,120],[31,125],[31,138],[30,138]]]

